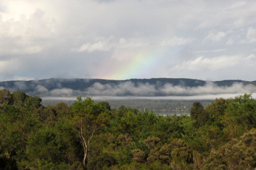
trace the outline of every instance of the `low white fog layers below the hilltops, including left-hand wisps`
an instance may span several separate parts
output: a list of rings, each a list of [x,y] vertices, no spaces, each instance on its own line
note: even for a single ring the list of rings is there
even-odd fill
[[[52,83],[49,80],[48,83]],[[4,87],[0,87],[3,89]],[[15,82],[14,90],[28,90],[24,82]],[[48,100],[67,100],[74,101],[77,96],[91,96],[94,100],[214,100],[215,98],[233,98],[244,93],[256,93],[256,86],[244,85],[235,82],[230,86],[218,86],[214,82],[206,82],[206,85],[189,87],[184,83],[173,85],[170,83],[156,84],[137,83],[128,81],[119,84],[101,84],[95,82],[83,90],[65,88],[61,84],[55,89],[48,89],[42,84],[33,84],[29,88],[29,95],[40,96]],[[63,97],[61,97],[63,96]]]

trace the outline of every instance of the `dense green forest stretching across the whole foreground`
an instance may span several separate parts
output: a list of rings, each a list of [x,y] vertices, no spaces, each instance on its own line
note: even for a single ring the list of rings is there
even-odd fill
[[[217,98],[189,115],[78,97],[44,107],[0,90],[0,169],[255,169],[256,101]]]

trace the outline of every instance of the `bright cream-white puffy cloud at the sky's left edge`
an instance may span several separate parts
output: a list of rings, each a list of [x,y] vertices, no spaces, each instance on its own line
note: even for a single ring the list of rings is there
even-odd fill
[[[55,20],[45,18],[41,9],[18,20],[4,20],[0,14],[0,56],[41,53],[54,36]],[[46,44],[47,42],[48,44]]]

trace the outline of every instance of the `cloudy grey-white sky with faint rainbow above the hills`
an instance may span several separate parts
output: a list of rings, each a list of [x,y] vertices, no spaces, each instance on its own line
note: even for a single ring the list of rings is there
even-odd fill
[[[256,80],[255,16],[255,0],[0,0],[0,81]]]

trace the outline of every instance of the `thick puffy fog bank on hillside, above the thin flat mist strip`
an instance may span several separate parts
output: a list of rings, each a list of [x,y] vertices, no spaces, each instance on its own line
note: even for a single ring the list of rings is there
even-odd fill
[[[255,85],[243,85],[235,83],[230,87],[217,86],[212,82],[207,82],[204,86],[185,87],[183,85],[173,86],[165,84],[162,87],[150,85],[148,83],[135,85],[132,82],[124,82],[119,85],[102,85],[94,83],[85,93],[89,96],[195,96],[203,94],[225,94],[225,93],[255,93]]]

